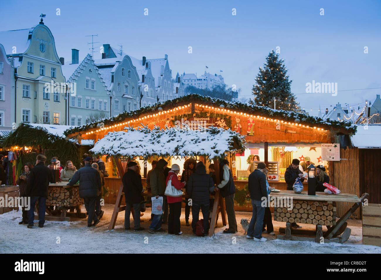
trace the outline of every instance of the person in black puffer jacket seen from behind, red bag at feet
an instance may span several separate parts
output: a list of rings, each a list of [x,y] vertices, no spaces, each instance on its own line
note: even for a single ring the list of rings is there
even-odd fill
[[[214,190],[214,182],[202,162],[196,164],[187,183],[188,195],[192,198],[192,230],[196,233],[196,223],[199,221],[200,208],[204,220],[205,235],[209,234],[209,194]]]

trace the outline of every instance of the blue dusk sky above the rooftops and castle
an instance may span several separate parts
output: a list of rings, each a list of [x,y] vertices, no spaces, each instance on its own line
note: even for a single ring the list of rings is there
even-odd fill
[[[291,90],[312,115],[335,104],[357,109],[381,93],[381,1],[2,1],[0,31],[38,24],[41,13],[59,57],[80,60],[110,44],[140,58],[163,58],[179,72],[219,74],[250,98],[267,54],[279,51]],[[59,9],[60,15],[57,15]],[[145,10],[148,9],[148,10]],[[233,10],[235,9],[235,10]],[[323,10],[321,10],[323,9]],[[144,13],[148,13],[145,15]],[[323,13],[323,15],[322,15]],[[1,38],[0,38],[1,43]],[[189,53],[189,47],[192,52]],[[364,48],[367,47],[367,53]],[[156,78],[156,77],[155,77]],[[306,83],[337,83],[337,95],[306,93]],[[312,109],[312,110],[311,110]]]

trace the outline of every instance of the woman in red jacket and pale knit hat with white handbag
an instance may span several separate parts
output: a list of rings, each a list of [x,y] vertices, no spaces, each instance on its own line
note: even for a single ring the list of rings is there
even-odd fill
[[[173,164],[171,171],[169,171],[168,176],[165,181],[165,185],[171,180],[172,186],[176,189],[181,190],[185,186],[185,182],[180,182],[177,178],[177,174],[180,172],[180,166]],[[182,197],[170,197],[167,196],[167,201],[169,205],[169,216],[168,216],[168,233],[169,234],[182,234],[180,231],[180,216],[181,216],[181,203]]]

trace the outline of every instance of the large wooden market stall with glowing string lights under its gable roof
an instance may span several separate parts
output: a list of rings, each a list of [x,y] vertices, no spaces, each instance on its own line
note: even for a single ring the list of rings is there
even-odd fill
[[[336,174],[343,174],[345,170],[341,167],[331,170],[332,161],[321,160],[321,146],[325,143],[340,143],[341,148],[345,148],[349,142],[349,135],[356,131],[356,126],[349,122],[339,122],[337,120],[323,120],[303,113],[289,112],[285,110],[273,110],[268,107],[249,106],[240,102],[226,102],[220,99],[203,97],[197,94],[190,94],[181,98],[175,98],[164,103],[144,107],[132,112],[123,112],[114,117],[105,118],[98,122],[89,123],[65,131],[67,137],[98,139],[112,131],[122,131],[125,126],[147,126],[154,129],[155,126],[166,129],[174,126],[189,126],[196,129],[202,127],[215,126],[218,128],[231,129],[242,136],[245,136],[246,150],[243,153],[229,153],[227,158],[231,163],[231,170],[235,177],[235,210],[251,211],[251,202],[247,189],[247,176],[241,176],[248,167],[247,160],[254,153],[260,155],[261,161],[267,166],[272,165],[276,174],[273,174],[269,181],[276,189],[285,190],[284,170],[290,165],[292,158],[300,158],[301,163],[305,157],[311,157],[311,162],[315,165],[323,164],[330,177],[331,183],[335,186],[338,180]],[[244,155],[243,155],[244,154]],[[341,157],[344,161],[347,158]],[[108,169],[109,177],[105,178],[106,203],[115,203],[118,197],[120,178],[116,163],[106,157],[102,157]],[[200,158],[197,158],[199,160]],[[126,161],[121,158],[122,164]],[[142,175],[146,177],[150,167],[148,163],[143,164],[143,158],[136,158],[142,166]],[[176,162],[179,163],[179,162]],[[207,164],[208,165],[208,164]],[[208,167],[208,166],[207,166]],[[335,172],[335,174],[333,174]],[[275,177],[275,178],[274,178]],[[142,183],[145,185],[145,179]],[[352,184],[349,182],[348,184]],[[305,190],[307,185],[304,184]],[[358,186],[357,186],[358,187]],[[359,190],[354,194],[359,195]],[[338,213],[345,213],[345,208],[341,210],[341,203],[338,203]],[[360,218],[359,210],[354,213],[356,218]]]

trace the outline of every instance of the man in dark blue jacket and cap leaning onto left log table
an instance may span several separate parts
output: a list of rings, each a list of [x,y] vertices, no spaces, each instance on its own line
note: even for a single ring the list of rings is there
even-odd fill
[[[89,214],[87,226],[95,226],[99,223],[98,216],[95,214],[95,203],[99,192],[101,192],[102,182],[98,170],[91,167],[91,157],[86,157],[85,166],[78,169],[70,179],[68,186],[73,186],[79,181],[79,197],[83,198],[85,208]],[[94,224],[91,224],[94,221]]]

